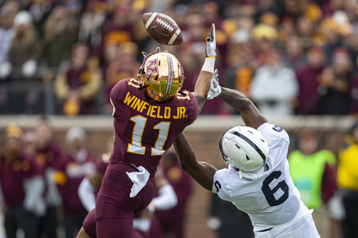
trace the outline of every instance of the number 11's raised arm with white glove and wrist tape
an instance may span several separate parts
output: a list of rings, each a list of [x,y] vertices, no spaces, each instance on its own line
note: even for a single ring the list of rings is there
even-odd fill
[[[215,25],[212,24],[210,33],[206,38],[206,49],[205,49],[205,63],[202,70],[200,71],[197,82],[195,83],[193,95],[198,100],[199,110],[202,110],[204,103],[206,102],[207,93],[209,90],[210,80],[214,75],[214,64],[216,57],[216,39],[215,39]]]

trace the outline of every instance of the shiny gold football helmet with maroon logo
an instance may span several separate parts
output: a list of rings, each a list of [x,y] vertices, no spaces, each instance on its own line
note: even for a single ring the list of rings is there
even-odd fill
[[[163,102],[173,98],[182,88],[184,80],[183,67],[168,51],[156,52],[146,55],[139,68],[138,77],[140,88],[155,101]]]

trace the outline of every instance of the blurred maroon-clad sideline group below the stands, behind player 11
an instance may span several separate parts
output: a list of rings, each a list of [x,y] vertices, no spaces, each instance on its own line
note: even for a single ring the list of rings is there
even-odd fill
[[[105,153],[97,158],[88,151],[87,133],[80,126],[68,128],[61,149],[46,118],[25,132],[11,123],[0,153],[0,231],[5,230],[0,237],[76,237],[95,207],[113,135],[102,144]],[[158,167],[152,208],[135,216],[134,232],[141,233],[137,237],[184,236],[192,179],[180,168],[173,151],[163,156]]]

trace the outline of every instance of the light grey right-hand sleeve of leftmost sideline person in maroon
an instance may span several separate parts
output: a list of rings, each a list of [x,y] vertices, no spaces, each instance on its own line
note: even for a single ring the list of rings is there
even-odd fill
[[[24,181],[25,199],[24,208],[37,216],[43,216],[46,212],[46,204],[42,197],[45,190],[45,182],[42,175],[34,175]]]

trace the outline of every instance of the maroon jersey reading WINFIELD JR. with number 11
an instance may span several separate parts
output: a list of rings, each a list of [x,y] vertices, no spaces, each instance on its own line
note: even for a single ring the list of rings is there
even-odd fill
[[[148,98],[135,78],[119,81],[111,91],[116,130],[110,162],[143,166],[155,173],[160,158],[176,137],[198,117],[198,101],[188,91],[171,101]]]

